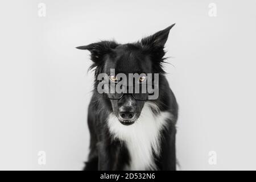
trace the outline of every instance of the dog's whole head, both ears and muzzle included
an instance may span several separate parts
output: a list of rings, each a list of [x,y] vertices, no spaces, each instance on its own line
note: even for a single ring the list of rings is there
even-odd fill
[[[118,73],[127,77],[129,77],[129,73],[138,73],[138,82],[142,82],[146,81],[148,73],[164,73],[162,69],[163,48],[173,26],[174,24],[133,44],[103,41],[77,48],[87,49],[91,52],[93,61],[91,68],[96,67],[95,78],[100,73],[106,73],[110,82],[115,82],[118,81],[116,77]],[[112,75],[111,69],[114,69],[114,75]],[[97,80],[95,83],[97,86]],[[108,100],[108,98],[105,99]],[[123,94],[119,99],[110,99],[109,101],[113,113],[123,125],[133,124],[140,117],[144,103],[147,102],[129,93]]]

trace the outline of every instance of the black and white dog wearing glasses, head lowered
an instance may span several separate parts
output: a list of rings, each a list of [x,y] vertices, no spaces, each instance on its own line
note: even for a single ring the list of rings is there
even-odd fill
[[[85,170],[175,170],[175,134],[178,106],[164,76],[164,44],[171,28],[156,32],[137,43],[102,41],[77,47],[91,53],[95,68],[92,100],[88,109],[90,152]],[[110,69],[115,70],[111,75]],[[143,94],[102,94],[99,74],[118,82],[117,73],[157,73],[158,98]],[[148,93],[146,93],[148,94]],[[143,99],[141,99],[144,97]]]

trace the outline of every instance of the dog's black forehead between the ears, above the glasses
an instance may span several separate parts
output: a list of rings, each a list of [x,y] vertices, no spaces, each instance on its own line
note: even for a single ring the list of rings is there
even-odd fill
[[[139,47],[135,47],[133,44],[125,44],[115,48],[113,53],[109,66],[115,68],[116,73],[150,72],[151,61]]]

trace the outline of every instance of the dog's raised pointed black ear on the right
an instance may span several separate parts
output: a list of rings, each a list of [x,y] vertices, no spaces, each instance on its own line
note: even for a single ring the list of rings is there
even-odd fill
[[[167,27],[164,30],[161,30],[159,32],[156,32],[154,35],[148,36],[146,38],[143,38],[141,40],[142,46],[146,47],[158,47],[158,48],[163,48],[164,44],[166,44],[166,41],[168,39],[169,32],[172,27],[175,26],[175,23],[172,24],[170,27]]]

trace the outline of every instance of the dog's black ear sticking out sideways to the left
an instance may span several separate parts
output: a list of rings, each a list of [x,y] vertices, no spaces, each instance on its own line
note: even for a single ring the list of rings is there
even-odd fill
[[[110,53],[112,49],[117,47],[118,44],[114,41],[101,41],[88,46],[79,46],[77,49],[84,49],[90,51],[91,60],[94,63],[100,63],[103,56]]]

